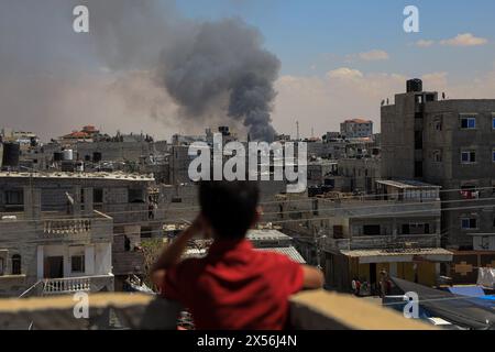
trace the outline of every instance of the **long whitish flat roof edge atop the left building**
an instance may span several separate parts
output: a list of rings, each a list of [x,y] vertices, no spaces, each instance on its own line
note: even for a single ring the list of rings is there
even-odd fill
[[[153,182],[152,175],[136,175],[124,173],[63,173],[63,172],[40,172],[40,173],[14,173],[0,172],[0,178],[43,178],[43,179],[113,179],[129,182]]]

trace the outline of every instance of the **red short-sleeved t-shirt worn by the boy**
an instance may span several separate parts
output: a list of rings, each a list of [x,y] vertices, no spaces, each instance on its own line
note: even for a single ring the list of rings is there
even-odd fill
[[[186,306],[200,330],[282,330],[302,280],[300,264],[286,255],[219,241],[206,257],[168,270],[162,295]]]

